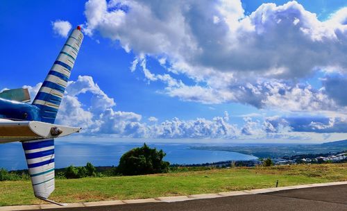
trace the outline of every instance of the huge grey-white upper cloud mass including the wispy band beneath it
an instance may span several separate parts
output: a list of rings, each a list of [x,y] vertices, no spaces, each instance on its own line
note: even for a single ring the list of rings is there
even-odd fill
[[[169,96],[291,111],[340,109],[329,90],[294,80],[319,69],[346,73],[346,8],[322,22],[296,1],[264,3],[245,15],[239,0],[90,0],[85,17],[88,35],[119,40],[136,55],[130,70],[140,67],[148,82],[166,84],[162,93]],[[153,74],[146,57],[167,73]]]

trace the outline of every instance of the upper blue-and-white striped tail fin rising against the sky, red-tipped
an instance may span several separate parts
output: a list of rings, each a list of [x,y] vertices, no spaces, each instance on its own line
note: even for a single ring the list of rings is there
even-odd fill
[[[54,62],[35,96],[33,105],[40,108],[41,121],[53,124],[56,120],[60,101],[64,95],[82,41],[83,33],[81,33],[81,27],[78,26],[65,42],[56,62]]]

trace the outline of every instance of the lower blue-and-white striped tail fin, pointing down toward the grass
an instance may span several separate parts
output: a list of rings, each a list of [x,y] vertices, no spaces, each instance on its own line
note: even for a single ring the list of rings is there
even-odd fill
[[[22,142],[35,196],[47,199],[54,190],[54,140]]]

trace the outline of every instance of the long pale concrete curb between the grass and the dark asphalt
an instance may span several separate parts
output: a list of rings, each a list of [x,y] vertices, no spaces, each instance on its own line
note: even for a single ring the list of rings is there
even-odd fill
[[[93,202],[83,202],[83,203],[69,203],[68,205],[62,207],[55,204],[41,204],[41,205],[16,205],[16,206],[6,206],[0,207],[0,211],[13,211],[13,210],[45,210],[51,208],[81,208],[81,207],[94,207],[94,206],[106,206],[106,205],[124,205],[132,203],[157,203],[157,202],[176,202],[176,201],[189,201],[196,199],[214,199],[226,196],[241,196],[248,194],[264,194],[269,192],[278,192],[280,190],[288,189],[301,189],[307,187],[322,187],[330,185],[347,185],[347,181],[335,182],[335,183],[316,183],[307,185],[294,185],[287,187],[270,187],[262,189],[251,189],[243,191],[234,192],[220,192],[218,194],[194,194],[188,196],[164,196],[155,199],[128,199],[128,200],[115,200],[115,201],[93,201]]]

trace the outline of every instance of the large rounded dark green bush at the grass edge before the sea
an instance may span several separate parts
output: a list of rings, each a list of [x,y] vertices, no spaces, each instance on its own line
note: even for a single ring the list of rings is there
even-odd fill
[[[117,169],[123,175],[164,173],[169,170],[169,162],[162,160],[165,155],[162,150],[151,149],[144,143],[144,146],[124,153]]]

